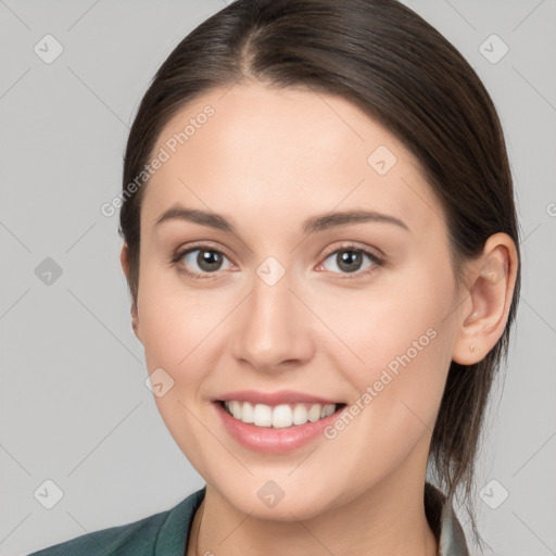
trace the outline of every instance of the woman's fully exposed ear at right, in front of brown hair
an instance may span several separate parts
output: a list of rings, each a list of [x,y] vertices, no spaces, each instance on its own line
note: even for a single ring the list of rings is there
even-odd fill
[[[462,303],[452,359],[473,365],[483,359],[506,327],[519,261],[514,240],[494,233],[469,273],[467,299]]]

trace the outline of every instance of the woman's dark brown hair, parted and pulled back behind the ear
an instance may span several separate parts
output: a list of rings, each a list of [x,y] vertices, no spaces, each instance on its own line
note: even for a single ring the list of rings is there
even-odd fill
[[[480,255],[493,233],[509,235],[519,260],[511,174],[494,104],[463,55],[396,0],[237,0],[204,21],[162,64],[140,103],[124,189],[176,112],[244,79],[342,96],[395,135],[420,161],[443,206],[458,283],[464,263]],[[121,210],[134,303],[143,192],[144,186]],[[429,464],[451,501],[465,486],[476,540],[475,460],[489,392],[503,355],[507,361],[519,288],[520,265],[503,336],[481,362],[452,362],[432,434]]]

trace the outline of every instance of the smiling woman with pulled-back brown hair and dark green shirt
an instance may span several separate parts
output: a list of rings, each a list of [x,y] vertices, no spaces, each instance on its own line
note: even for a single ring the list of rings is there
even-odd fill
[[[480,540],[520,268],[457,50],[394,0],[233,2],[156,73],[119,202],[155,402],[206,484],[36,554],[469,554],[452,503]]]

